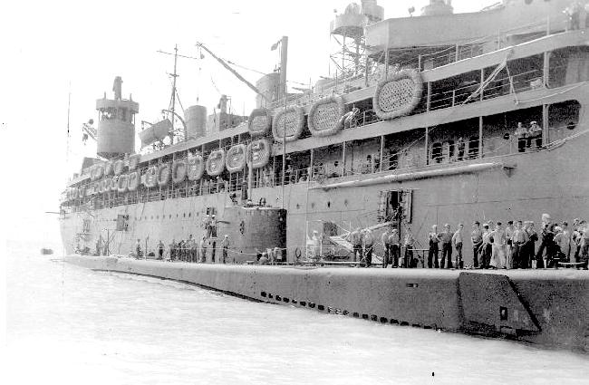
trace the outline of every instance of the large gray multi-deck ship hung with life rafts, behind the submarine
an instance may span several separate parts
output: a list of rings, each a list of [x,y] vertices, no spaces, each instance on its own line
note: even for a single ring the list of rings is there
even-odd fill
[[[106,239],[126,255],[137,239],[210,237],[203,222],[216,215],[232,261],[278,246],[293,262],[313,230],[327,255],[352,228],[391,220],[424,245],[433,224],[589,217],[589,49],[584,12],[564,13],[573,6],[453,14],[431,1],[383,20],[376,1],[350,5],[331,24],[334,76],[288,93],[284,61],[256,83],[249,116],[227,97],[212,115],[190,107],[183,140],[163,145],[175,115],[140,132],[159,146],[150,153],[133,154],[139,105],[121,99],[118,78],[114,98],[97,101],[101,159],[64,193],[63,243]],[[518,123],[539,130],[522,140]]]

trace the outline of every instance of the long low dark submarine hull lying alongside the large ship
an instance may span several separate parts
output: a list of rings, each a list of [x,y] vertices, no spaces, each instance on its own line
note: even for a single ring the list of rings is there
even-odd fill
[[[589,351],[589,277],[582,271],[308,269],[86,255],[68,255],[65,260],[94,270],[198,284],[256,301],[373,322]]]

